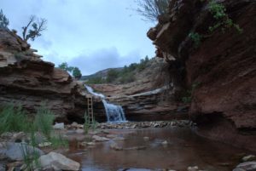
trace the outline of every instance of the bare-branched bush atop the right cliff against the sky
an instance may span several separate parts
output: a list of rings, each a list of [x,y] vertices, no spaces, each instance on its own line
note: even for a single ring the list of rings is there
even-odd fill
[[[168,12],[169,0],[136,0],[136,3],[137,13],[148,21],[157,21],[160,14]]]

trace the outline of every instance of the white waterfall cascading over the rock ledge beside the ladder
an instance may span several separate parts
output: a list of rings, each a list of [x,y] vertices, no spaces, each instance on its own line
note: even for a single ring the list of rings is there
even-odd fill
[[[108,123],[126,122],[125,112],[123,111],[121,105],[110,104],[107,102],[107,100],[105,100],[105,95],[95,93],[93,89],[87,85],[85,85],[85,88],[88,90],[90,94],[101,97],[108,118]]]

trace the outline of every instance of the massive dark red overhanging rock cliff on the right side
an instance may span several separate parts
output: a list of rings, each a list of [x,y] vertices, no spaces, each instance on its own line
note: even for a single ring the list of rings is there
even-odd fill
[[[208,1],[172,0],[167,20],[148,31],[157,54],[172,67],[175,86],[192,93],[190,116],[215,140],[256,149],[256,2],[224,0],[226,14],[243,30],[210,32]],[[200,46],[189,33],[203,35]],[[201,131],[202,130],[202,131]]]

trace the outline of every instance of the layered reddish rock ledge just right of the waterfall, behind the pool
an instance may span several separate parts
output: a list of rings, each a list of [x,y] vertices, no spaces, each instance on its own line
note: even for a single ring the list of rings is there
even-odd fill
[[[97,92],[107,96],[113,104],[122,105],[129,121],[164,121],[188,118],[188,106],[174,100],[172,82],[164,79],[166,71],[152,65],[137,77],[137,81],[126,84],[91,85]]]

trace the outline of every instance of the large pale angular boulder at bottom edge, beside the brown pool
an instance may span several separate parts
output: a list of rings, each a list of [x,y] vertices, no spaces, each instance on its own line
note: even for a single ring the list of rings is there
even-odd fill
[[[54,168],[54,170],[79,170],[79,162],[75,162],[60,153],[49,152],[47,155],[39,157],[42,168]]]

